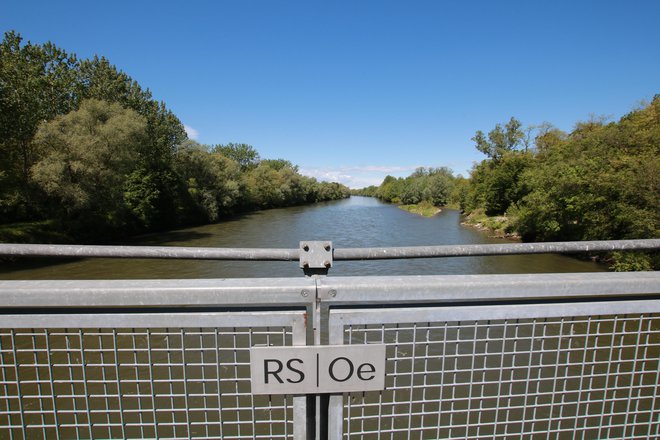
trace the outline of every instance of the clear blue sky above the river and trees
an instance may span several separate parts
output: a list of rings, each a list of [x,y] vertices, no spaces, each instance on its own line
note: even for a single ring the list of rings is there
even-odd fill
[[[570,130],[660,93],[660,1],[9,1],[0,28],[104,55],[205,144],[351,187],[466,175],[517,117]]]

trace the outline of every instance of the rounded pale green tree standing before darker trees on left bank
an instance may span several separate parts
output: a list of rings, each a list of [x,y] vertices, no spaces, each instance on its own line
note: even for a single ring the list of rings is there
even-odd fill
[[[118,227],[127,220],[124,183],[146,141],[146,121],[119,104],[85,100],[39,127],[33,180],[74,227]]]

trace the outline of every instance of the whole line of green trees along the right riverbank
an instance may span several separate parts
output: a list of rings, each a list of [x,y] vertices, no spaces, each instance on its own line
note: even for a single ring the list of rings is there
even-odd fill
[[[593,118],[566,133],[548,123],[523,128],[511,118],[472,140],[486,158],[468,179],[420,169],[359,193],[457,204],[468,216],[497,217],[524,241],[659,236],[660,95],[616,122]],[[658,266],[657,253],[608,258],[619,270]]]

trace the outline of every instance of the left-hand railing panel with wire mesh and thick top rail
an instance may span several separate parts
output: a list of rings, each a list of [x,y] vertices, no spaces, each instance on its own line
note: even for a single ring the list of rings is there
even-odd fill
[[[0,438],[307,438],[305,397],[250,393],[249,349],[305,345],[313,288],[0,282]]]

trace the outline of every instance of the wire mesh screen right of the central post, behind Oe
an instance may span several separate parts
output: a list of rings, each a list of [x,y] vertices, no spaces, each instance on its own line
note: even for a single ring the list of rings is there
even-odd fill
[[[658,438],[659,316],[344,325],[387,371],[344,396],[343,436]]]

